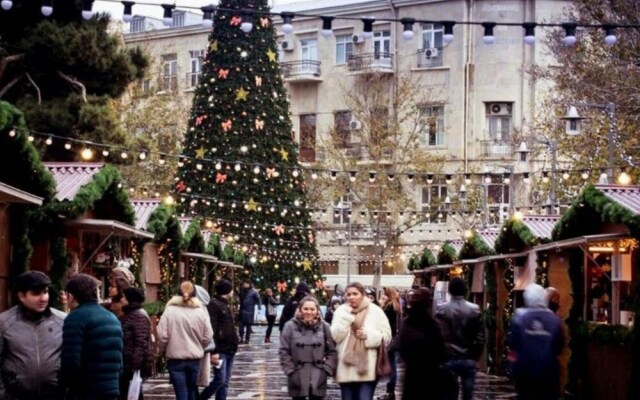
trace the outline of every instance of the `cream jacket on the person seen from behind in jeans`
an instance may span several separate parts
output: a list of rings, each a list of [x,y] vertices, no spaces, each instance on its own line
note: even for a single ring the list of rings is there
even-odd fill
[[[197,298],[169,300],[158,324],[158,344],[169,360],[198,360],[213,339],[207,311]]]

